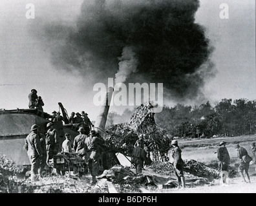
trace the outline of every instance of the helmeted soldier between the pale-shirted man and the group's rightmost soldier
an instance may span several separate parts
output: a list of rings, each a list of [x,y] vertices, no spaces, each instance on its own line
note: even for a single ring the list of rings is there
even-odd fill
[[[80,134],[74,138],[74,152],[78,153],[85,160],[87,152],[85,139],[87,135],[85,135],[85,129],[83,127],[80,127],[78,131]]]

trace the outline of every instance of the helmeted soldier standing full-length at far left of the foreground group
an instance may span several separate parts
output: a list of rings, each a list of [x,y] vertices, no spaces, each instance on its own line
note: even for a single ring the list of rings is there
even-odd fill
[[[38,133],[37,124],[32,125],[30,134],[25,140],[25,149],[27,150],[28,158],[31,164],[31,181],[38,180],[38,169],[40,164],[40,158],[42,155],[42,149]]]

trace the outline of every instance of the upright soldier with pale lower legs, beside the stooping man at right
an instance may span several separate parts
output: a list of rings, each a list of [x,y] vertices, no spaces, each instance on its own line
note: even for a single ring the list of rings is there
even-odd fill
[[[217,150],[217,158],[219,160],[220,183],[226,185],[228,178],[228,165],[230,164],[230,157],[226,142],[222,141],[219,144],[220,148]]]

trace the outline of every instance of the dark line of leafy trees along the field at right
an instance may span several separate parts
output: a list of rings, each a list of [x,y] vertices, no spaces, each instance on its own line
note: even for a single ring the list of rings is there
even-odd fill
[[[155,114],[155,121],[179,137],[251,135],[256,129],[256,100],[223,98],[214,107],[209,102],[193,107],[164,106],[161,113]]]

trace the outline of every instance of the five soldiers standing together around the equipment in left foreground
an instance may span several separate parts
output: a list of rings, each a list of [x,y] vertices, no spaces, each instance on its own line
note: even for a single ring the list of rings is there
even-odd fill
[[[25,149],[31,164],[31,181],[39,180],[43,176],[45,165],[50,167],[50,160],[54,158],[54,154],[77,153],[89,166],[92,175],[92,184],[96,183],[96,175],[99,170],[100,145],[104,143],[103,138],[91,130],[89,135],[85,135],[85,129],[78,129],[79,135],[74,138],[73,146],[70,142],[70,134],[65,133],[65,140],[61,142],[58,130],[54,128],[54,122],[48,122],[47,133],[45,135],[39,133],[39,126],[32,125],[30,134],[25,140]]]

